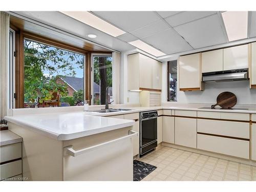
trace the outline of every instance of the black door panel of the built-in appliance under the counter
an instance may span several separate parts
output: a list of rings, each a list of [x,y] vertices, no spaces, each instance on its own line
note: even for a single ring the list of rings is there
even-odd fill
[[[142,119],[140,122],[140,146],[157,140],[157,117]]]

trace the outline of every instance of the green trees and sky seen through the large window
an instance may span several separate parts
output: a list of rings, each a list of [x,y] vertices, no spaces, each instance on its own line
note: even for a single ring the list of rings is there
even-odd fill
[[[24,55],[25,102],[35,102],[38,90],[44,100],[53,98],[53,92],[65,96],[67,88],[55,83],[55,76],[59,73],[75,76],[77,69],[83,69],[83,55],[27,39],[24,40]],[[44,74],[44,71],[48,74]]]

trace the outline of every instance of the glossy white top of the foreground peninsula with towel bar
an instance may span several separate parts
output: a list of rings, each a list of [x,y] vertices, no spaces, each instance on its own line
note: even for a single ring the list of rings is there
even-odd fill
[[[134,125],[134,120],[89,116],[84,112],[17,115],[5,119],[56,140],[70,140]]]

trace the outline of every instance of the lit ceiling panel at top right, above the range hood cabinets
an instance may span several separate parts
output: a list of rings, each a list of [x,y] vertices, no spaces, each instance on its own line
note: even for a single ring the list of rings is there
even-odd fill
[[[229,41],[247,38],[248,11],[221,13]]]

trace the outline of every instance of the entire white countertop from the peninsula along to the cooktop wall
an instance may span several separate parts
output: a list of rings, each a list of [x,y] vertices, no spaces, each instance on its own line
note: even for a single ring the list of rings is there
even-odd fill
[[[223,109],[199,109],[202,106],[210,106],[209,104],[179,104],[176,106],[125,106],[123,109],[130,111],[118,111],[111,113],[99,113],[95,111],[70,111],[42,113],[42,114],[27,114],[6,116],[5,119],[9,122],[23,125],[50,136],[57,140],[69,140],[79,137],[89,136],[93,134],[103,133],[106,131],[120,129],[122,127],[132,126],[133,120],[108,118],[104,116],[114,116],[129,113],[139,113],[143,111],[153,110],[189,110],[189,111],[210,111],[210,112],[228,112],[228,113],[251,113],[256,114],[256,106],[241,105],[235,108],[246,108],[248,110],[223,110]],[[96,110],[96,109],[95,109]]]

